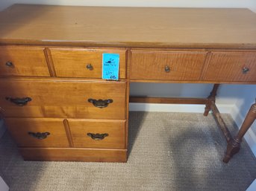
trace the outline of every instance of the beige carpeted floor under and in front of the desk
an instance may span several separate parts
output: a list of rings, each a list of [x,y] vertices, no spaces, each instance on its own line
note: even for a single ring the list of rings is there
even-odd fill
[[[234,121],[224,114],[227,126]],[[202,114],[131,112],[127,164],[22,161],[6,133],[0,140],[0,175],[10,191],[243,191],[256,178],[245,142],[228,164],[225,139]]]

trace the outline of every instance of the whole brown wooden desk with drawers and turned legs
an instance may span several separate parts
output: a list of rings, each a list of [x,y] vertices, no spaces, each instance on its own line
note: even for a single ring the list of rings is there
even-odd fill
[[[0,13],[0,106],[25,160],[127,160],[128,103],[205,104],[238,152],[252,105],[231,137],[219,84],[256,83],[256,14],[246,9],[16,4]],[[102,80],[102,54],[120,56]],[[205,99],[130,97],[130,82],[213,83]]]

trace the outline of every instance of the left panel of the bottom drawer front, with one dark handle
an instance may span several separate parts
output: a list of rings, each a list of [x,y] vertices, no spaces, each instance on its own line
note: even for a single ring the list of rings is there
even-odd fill
[[[21,147],[69,147],[62,120],[5,119],[7,129]]]

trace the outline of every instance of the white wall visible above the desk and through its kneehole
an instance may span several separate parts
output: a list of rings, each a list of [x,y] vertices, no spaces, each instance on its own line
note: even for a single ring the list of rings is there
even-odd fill
[[[89,5],[89,6],[131,6],[131,7],[247,7],[256,12],[256,0],[0,0],[0,10],[15,3],[25,4],[60,4],[60,5]],[[153,96],[183,96],[205,97],[209,94],[211,85],[185,84],[131,84],[131,94]],[[219,89],[217,103],[228,104],[237,124],[243,121],[246,112],[255,102],[255,85],[222,85]],[[240,108],[240,109],[239,109]],[[256,153],[256,126],[250,132],[252,146]],[[255,134],[253,133],[255,132]]]

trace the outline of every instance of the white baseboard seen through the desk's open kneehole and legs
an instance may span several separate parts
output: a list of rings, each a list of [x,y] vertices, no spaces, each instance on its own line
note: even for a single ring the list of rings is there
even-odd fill
[[[244,117],[240,114],[240,110],[233,104],[217,104],[220,113],[231,114],[234,122],[240,127],[243,123]],[[190,112],[202,113],[205,110],[204,105],[192,104],[158,104],[158,103],[130,103],[129,111],[160,111],[160,112]],[[256,125],[256,124],[255,124]],[[252,149],[256,157],[256,135],[252,129],[245,135],[246,142]]]

